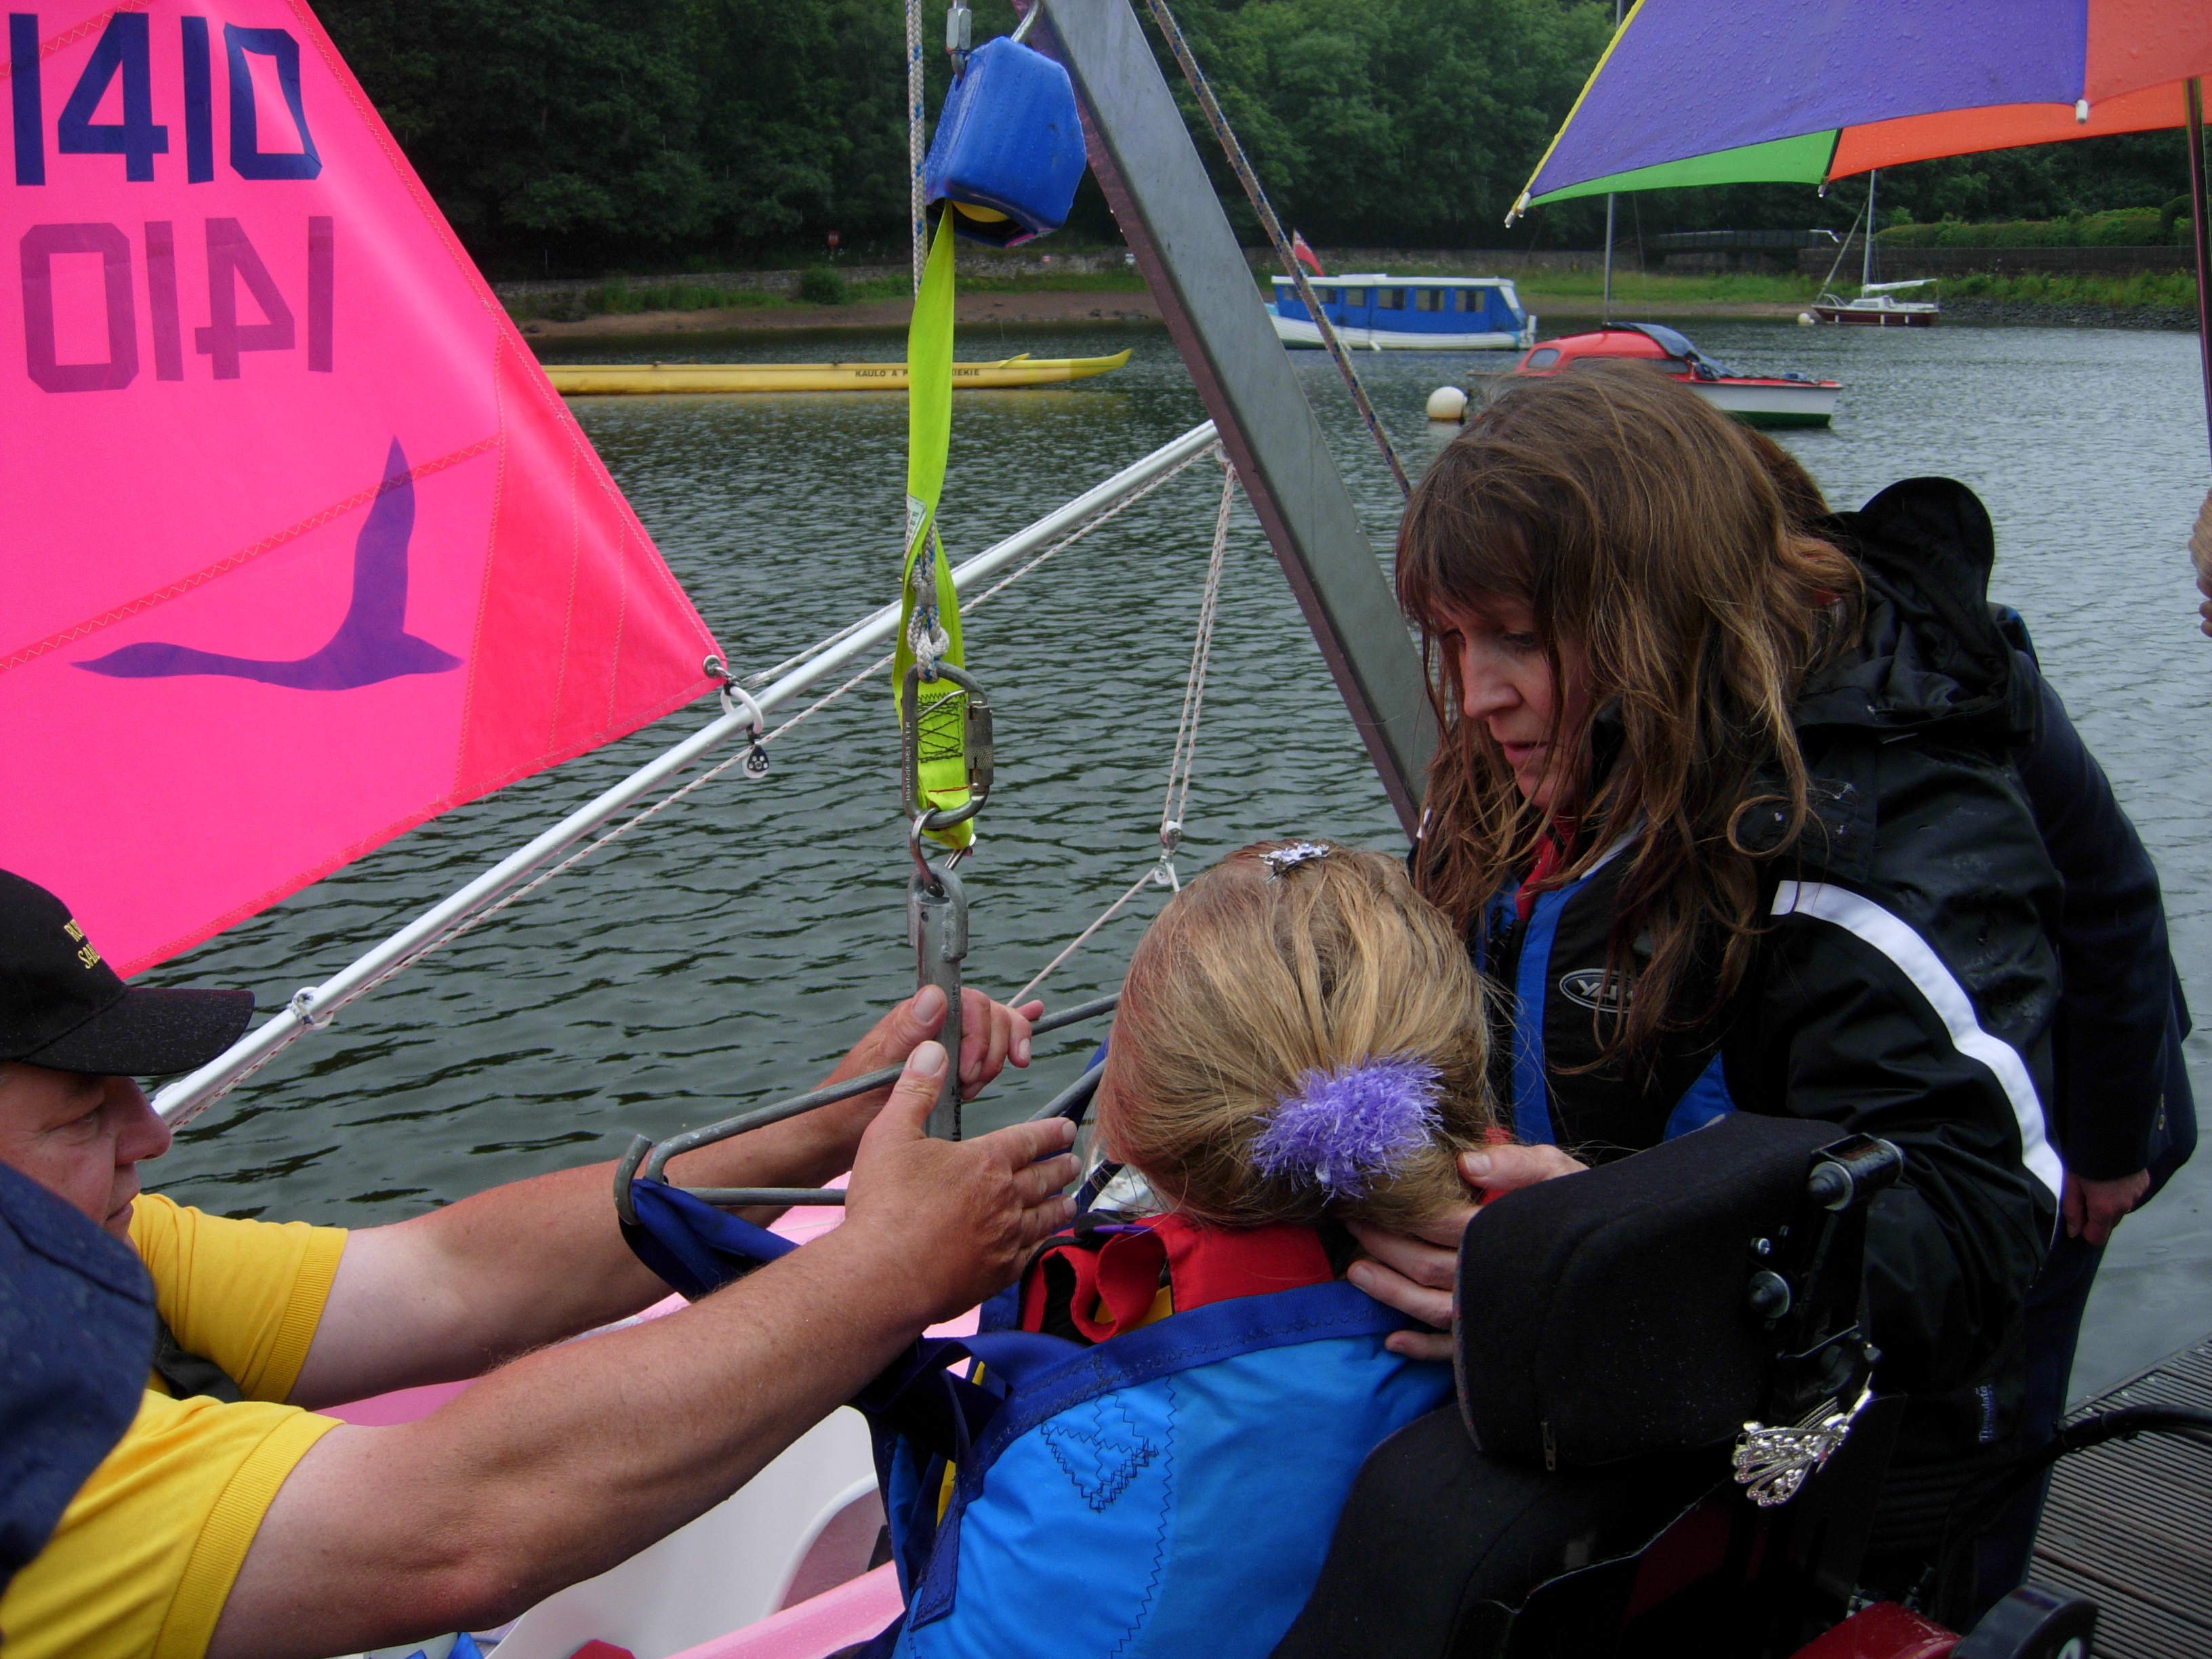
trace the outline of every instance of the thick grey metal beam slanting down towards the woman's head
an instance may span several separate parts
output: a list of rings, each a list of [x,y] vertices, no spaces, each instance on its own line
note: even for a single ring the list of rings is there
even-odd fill
[[[1033,46],[1066,64],[1091,170],[1245,500],[1305,613],[1407,836],[1436,721],[1420,653],[1298,374],[1252,292],[1221,199],[1128,0],[1044,0]],[[1318,690],[1318,688],[1316,688]]]

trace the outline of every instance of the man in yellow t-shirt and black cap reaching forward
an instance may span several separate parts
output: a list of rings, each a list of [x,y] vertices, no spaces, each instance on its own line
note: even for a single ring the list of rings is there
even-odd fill
[[[1029,1062],[1033,1009],[969,995],[960,1075],[980,1088]],[[168,1128],[133,1077],[204,1064],[248,1013],[246,993],[124,987],[58,898],[0,872],[0,1164],[128,1239],[164,1327],[131,1429],[0,1593],[7,1659],[325,1659],[500,1624],[721,1502],[1071,1208],[1057,1119],[925,1139],[947,1062],[929,989],[832,1073],[905,1057],[889,1091],[672,1172],[849,1168],[845,1225],[670,1318],[549,1349],[666,1294],[622,1243],[608,1164],[358,1232],[139,1192]],[[420,1422],[314,1416],[469,1376]]]

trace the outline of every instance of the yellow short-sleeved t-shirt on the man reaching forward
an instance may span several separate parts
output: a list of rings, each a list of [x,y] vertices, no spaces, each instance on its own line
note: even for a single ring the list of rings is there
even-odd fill
[[[338,1427],[276,1402],[307,1360],[343,1228],[228,1221],[146,1194],[131,1243],[179,1347],[221,1365],[246,1398],[146,1389],[46,1548],[0,1595],[7,1659],[199,1659],[276,1489]]]

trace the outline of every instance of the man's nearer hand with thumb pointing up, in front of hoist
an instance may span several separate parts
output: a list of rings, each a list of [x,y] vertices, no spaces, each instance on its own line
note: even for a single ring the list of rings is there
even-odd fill
[[[1013,1276],[1075,1217],[1062,1188],[1079,1175],[1066,1155],[1075,1124],[1048,1117],[973,1141],[931,1141],[922,1126],[945,1077],[945,1048],[920,1044],[891,1099],[860,1137],[841,1234],[880,1241],[920,1296],[925,1323],[967,1312]],[[1042,1161],[1040,1161],[1042,1159]]]

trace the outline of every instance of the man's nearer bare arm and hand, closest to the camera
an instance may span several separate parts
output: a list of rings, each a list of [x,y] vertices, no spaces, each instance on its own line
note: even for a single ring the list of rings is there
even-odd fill
[[[1073,1203],[1064,1119],[931,1141],[922,1044],[845,1225],[695,1307],[507,1365],[420,1422],[343,1427],[270,1504],[210,1659],[484,1628],[706,1513],[925,1325],[1006,1285]],[[1044,1159],[1044,1161],[1037,1161]]]

